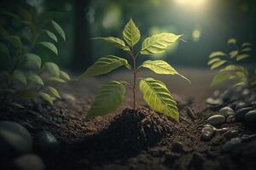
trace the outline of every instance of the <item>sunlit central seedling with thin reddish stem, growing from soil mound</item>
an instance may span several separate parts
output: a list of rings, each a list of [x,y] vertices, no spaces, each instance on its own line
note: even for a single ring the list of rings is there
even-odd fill
[[[177,42],[182,35],[175,35],[172,33],[160,33],[151,37],[147,37],[143,41],[140,51],[135,53],[134,46],[139,42],[141,33],[133,20],[130,20],[123,31],[123,38],[118,37],[97,37],[95,39],[104,40],[113,44],[117,48],[121,48],[132,59],[132,68],[128,61],[124,58],[119,58],[114,55],[107,55],[98,59],[95,64],[91,65],[82,75],[83,77],[94,77],[98,75],[107,74],[110,71],[124,65],[133,75],[133,83],[112,81],[104,85],[98,94],[96,100],[91,105],[88,111],[87,118],[93,116],[102,116],[109,112],[115,111],[119,105],[122,104],[125,97],[125,85],[131,88],[133,94],[133,110],[136,109],[136,82],[137,73],[142,68],[148,68],[157,74],[165,75],[179,75],[171,65],[164,60],[146,60],[142,65],[137,66],[137,57],[139,54],[154,55],[166,51],[166,48],[171,44]],[[126,43],[125,43],[126,42]],[[185,78],[185,77],[183,77]],[[160,82],[151,77],[138,78],[140,91],[143,93],[143,99],[154,110],[164,113],[166,116],[171,116],[175,121],[179,122],[179,113],[177,110],[176,101],[173,99],[170,91],[166,88],[164,82]],[[185,78],[188,80],[187,78]],[[188,80],[189,81],[189,80]]]

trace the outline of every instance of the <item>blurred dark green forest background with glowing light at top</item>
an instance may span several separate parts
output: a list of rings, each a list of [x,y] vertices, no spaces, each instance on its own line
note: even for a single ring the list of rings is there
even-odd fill
[[[57,46],[60,57],[44,52],[41,57],[77,73],[102,55],[124,56],[119,48],[90,38],[122,37],[130,18],[139,27],[142,39],[164,31],[183,34],[186,42],[172,45],[159,56],[181,67],[207,67],[207,56],[212,51],[230,50],[226,44],[230,37],[236,37],[239,43],[256,41],[253,0],[6,0],[1,1],[1,8],[24,2],[40,13],[58,12],[54,18],[66,31],[67,41]],[[139,62],[145,58],[139,58]],[[252,63],[255,57],[245,60]]]

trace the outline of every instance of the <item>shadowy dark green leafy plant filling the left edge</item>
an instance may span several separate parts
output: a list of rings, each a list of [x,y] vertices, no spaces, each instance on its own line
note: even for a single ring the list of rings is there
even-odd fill
[[[38,14],[29,5],[17,7],[15,14],[1,11],[0,16],[4,20],[1,23],[6,23],[0,26],[0,54],[7,62],[5,65],[8,65],[0,72],[2,101],[8,99],[10,104],[23,108],[20,99],[40,96],[53,105],[54,99],[60,99],[61,95],[48,85],[49,82],[66,82],[70,77],[53,62],[42,65],[40,56],[35,54],[35,47],[42,46],[57,55],[58,50],[53,42],[57,43],[58,38],[49,29],[58,33],[64,41],[65,32],[50,19],[50,14]],[[44,35],[52,42],[42,41]]]

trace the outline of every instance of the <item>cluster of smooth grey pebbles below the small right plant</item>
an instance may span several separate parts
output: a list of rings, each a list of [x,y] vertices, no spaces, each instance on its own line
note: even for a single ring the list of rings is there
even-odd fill
[[[242,122],[246,126],[255,127],[255,89],[235,87],[224,91],[223,94],[215,91],[206,102],[208,109],[214,111],[214,114],[207,117],[207,124],[201,129],[201,140],[209,141],[215,133],[224,132],[224,137],[230,139],[228,144],[241,143],[241,139],[236,138],[239,133],[236,123],[234,123],[234,127],[230,127],[229,124]],[[224,144],[225,147],[226,144]]]

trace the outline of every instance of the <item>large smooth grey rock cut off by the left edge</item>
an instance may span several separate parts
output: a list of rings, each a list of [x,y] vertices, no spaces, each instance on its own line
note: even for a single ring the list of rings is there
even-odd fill
[[[16,122],[0,122],[0,155],[19,156],[32,151],[32,136]]]

